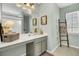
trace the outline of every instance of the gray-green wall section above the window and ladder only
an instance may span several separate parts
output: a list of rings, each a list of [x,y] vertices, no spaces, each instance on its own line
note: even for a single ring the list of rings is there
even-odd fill
[[[66,13],[79,11],[79,3],[72,4],[70,6],[60,8],[60,19],[64,20],[66,17]]]

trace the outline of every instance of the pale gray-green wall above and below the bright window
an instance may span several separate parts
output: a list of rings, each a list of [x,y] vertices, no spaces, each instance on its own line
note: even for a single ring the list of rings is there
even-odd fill
[[[64,21],[66,18],[66,13],[79,11],[79,3],[72,4],[70,6],[64,7],[60,9],[60,20]],[[71,46],[79,47],[79,34],[69,34],[69,43]]]

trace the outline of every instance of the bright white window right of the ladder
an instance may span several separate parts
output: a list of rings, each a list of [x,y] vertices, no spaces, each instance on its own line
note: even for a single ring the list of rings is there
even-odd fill
[[[79,33],[79,11],[67,13],[66,20],[68,33]]]

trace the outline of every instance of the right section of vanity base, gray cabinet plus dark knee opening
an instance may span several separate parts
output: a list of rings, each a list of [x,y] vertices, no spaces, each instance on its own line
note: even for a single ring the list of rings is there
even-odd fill
[[[34,39],[33,42],[27,44],[27,56],[39,56],[47,50],[47,36]]]

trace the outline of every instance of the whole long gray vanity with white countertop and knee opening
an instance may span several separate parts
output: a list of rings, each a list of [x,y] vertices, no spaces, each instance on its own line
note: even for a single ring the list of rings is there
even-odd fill
[[[47,34],[20,34],[18,40],[0,42],[1,56],[38,56],[47,50]]]

